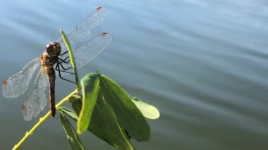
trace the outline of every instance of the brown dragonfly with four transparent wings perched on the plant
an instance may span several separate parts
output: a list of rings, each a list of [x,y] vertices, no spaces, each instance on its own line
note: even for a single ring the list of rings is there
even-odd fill
[[[102,23],[106,15],[108,15],[106,7],[96,8],[82,23],[66,35],[73,50],[77,69],[90,63],[111,43],[112,37],[106,32],[96,37],[90,36],[91,30]],[[64,52],[61,53],[61,51]],[[47,106],[47,88],[49,89],[51,116],[54,117],[56,113],[56,75],[59,75],[63,80],[67,80],[64,76],[74,73],[62,38],[47,44],[46,50],[39,58],[33,59],[18,73],[8,77],[2,85],[3,95],[7,98],[15,98],[24,94],[36,72],[37,77],[34,85],[23,104],[23,116],[26,121],[36,118]],[[71,80],[67,81],[72,82]]]

